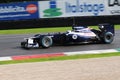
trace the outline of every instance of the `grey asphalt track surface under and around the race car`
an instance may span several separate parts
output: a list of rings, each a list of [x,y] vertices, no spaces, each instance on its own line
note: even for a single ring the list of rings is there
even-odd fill
[[[120,48],[120,30],[117,30],[115,31],[115,38],[112,44],[79,44],[69,46],[56,45],[48,49],[22,49],[20,47],[20,42],[23,41],[24,38],[32,37],[33,35],[34,34],[0,35],[0,57]]]

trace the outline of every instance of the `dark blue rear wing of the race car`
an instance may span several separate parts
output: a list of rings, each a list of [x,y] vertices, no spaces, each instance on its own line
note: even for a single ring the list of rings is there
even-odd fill
[[[115,35],[114,25],[109,23],[99,24],[99,29],[104,32],[111,32]]]

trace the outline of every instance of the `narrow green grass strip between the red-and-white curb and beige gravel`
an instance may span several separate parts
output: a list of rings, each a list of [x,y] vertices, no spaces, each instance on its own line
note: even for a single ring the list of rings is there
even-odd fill
[[[88,58],[102,58],[102,57],[111,57],[111,56],[120,56],[120,52],[104,53],[104,54],[82,54],[82,55],[61,56],[61,57],[51,57],[51,58],[36,58],[36,59],[16,60],[16,61],[0,61],[0,65],[16,64],[16,63],[56,61],[56,60],[61,61],[61,60],[75,60],[75,59],[88,59]]]

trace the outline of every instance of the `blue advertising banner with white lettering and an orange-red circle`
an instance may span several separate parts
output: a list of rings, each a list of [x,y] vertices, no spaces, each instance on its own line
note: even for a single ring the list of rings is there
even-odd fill
[[[0,20],[37,19],[38,2],[0,4]]]

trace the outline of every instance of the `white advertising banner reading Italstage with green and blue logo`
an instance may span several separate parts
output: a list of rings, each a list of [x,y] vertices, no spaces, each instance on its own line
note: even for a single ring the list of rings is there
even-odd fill
[[[120,15],[120,0],[39,1],[40,18]]]

